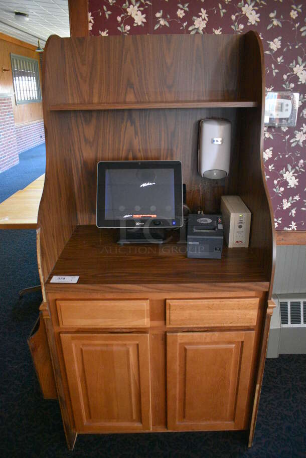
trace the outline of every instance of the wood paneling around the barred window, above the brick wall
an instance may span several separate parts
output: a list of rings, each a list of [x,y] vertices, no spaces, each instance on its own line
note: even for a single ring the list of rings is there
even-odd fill
[[[39,61],[38,53],[32,48],[29,48],[29,46],[24,46],[23,42],[19,42],[19,40],[7,41],[5,35],[0,35],[0,93],[14,93],[10,53],[30,57],[31,59]],[[10,71],[3,73],[2,67],[9,68]],[[16,124],[36,121],[43,118],[43,106],[41,102],[16,105],[15,97],[13,97],[13,112]]]

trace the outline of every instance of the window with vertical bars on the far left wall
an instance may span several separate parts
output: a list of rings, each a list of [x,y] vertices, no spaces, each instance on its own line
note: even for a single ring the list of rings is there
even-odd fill
[[[38,60],[11,54],[16,104],[41,102]]]

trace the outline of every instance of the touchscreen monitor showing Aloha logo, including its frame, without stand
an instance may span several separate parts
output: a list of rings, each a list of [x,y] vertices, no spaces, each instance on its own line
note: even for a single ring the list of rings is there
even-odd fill
[[[180,227],[179,161],[102,161],[97,172],[98,227]]]

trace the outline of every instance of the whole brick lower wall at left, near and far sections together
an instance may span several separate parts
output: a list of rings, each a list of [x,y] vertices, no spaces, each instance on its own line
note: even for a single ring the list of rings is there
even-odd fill
[[[0,96],[0,173],[19,163],[19,154],[45,141],[44,122],[14,122],[12,97]]]

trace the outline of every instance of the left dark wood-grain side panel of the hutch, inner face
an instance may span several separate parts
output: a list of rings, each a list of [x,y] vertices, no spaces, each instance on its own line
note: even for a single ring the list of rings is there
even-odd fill
[[[53,41],[60,41],[59,37]],[[48,40],[43,61],[43,109],[46,136],[46,175],[41,198],[37,228],[39,230],[40,279],[46,281],[66,242],[76,226],[76,203],[70,155],[67,142],[70,132],[68,125],[59,125],[56,113],[50,112],[48,106],[54,93],[61,84],[52,84],[57,80],[54,73],[54,61],[50,56]],[[52,45],[51,45],[52,48]],[[43,288],[44,289],[44,288]]]

